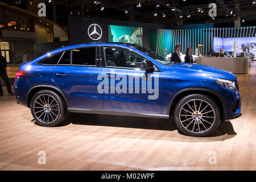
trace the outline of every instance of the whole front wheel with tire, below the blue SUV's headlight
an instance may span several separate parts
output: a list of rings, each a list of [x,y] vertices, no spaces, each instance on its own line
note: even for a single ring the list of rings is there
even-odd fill
[[[191,94],[181,98],[174,109],[177,128],[192,137],[206,137],[212,134],[220,125],[220,120],[218,105],[212,98],[203,94]]]

